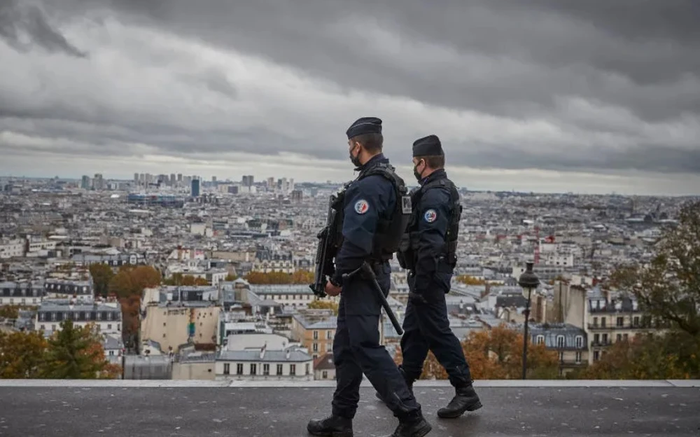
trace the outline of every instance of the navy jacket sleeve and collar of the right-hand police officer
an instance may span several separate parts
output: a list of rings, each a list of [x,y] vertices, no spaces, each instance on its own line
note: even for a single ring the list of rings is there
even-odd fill
[[[444,169],[435,170],[424,178],[421,186],[439,179],[447,179]],[[423,192],[421,200],[413,207],[418,217],[419,233],[415,289],[421,292],[430,286],[430,281],[437,271],[438,257],[445,244],[451,213],[449,189],[433,186]]]

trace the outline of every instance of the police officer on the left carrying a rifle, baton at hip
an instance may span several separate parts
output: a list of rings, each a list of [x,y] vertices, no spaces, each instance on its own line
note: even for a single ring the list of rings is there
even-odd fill
[[[388,260],[398,249],[409,212],[401,216],[400,188],[403,181],[381,153],[381,120],[360,118],[346,132],[350,160],[360,172],[346,187],[339,213],[342,221],[342,246],[335,257],[335,275],[325,293],[340,295],[337,329],[333,340],[337,387],[333,394],[332,415],[311,420],[307,429],[315,436],[352,436],[352,419],[360,401],[363,373],[398,418],[392,436],[421,437],[431,426],[423,419],[421,406],[386,349],[379,345],[381,305],[372,282],[361,275],[346,277],[367,262],[377,277],[384,295],[388,294],[391,268]],[[393,233],[391,232],[393,231]],[[394,246],[395,247],[392,247]]]

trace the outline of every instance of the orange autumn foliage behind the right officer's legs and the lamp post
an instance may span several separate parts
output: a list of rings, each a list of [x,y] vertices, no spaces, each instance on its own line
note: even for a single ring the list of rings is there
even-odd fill
[[[522,377],[523,334],[505,325],[490,330],[474,331],[461,342],[462,350],[475,380],[512,380]],[[556,352],[545,345],[528,343],[527,377],[553,379],[559,375]],[[397,363],[402,356],[396,354]],[[447,371],[442,368],[432,352],[423,363],[423,380],[446,380]]]

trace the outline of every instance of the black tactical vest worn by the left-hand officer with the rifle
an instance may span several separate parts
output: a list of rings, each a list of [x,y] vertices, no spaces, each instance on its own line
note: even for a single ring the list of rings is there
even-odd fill
[[[411,197],[408,195],[408,190],[403,179],[395,173],[394,167],[384,162],[363,170],[354,182],[377,174],[391,182],[396,201],[393,211],[385,211],[385,214],[389,213],[391,216],[379,216],[377,229],[374,231],[372,254],[370,254],[370,259],[367,261],[388,261],[393,258],[393,254],[398,251],[403,233],[411,220]],[[337,222],[339,226],[335,230],[338,238],[337,241],[339,242],[343,240],[342,223],[345,219],[345,192],[349,185],[350,183],[346,184],[343,190],[338,194],[337,200],[333,206],[340,215],[340,219]]]

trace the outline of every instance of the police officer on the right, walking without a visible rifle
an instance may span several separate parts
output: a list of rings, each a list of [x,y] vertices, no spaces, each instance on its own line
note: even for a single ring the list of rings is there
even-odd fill
[[[437,411],[454,418],[482,407],[474,388],[462,347],[449,328],[445,294],[449,292],[461,216],[457,189],[444,171],[440,139],[429,135],[413,144],[414,176],[420,188],[412,193],[413,218],[398,258],[408,272],[409,300],[401,338],[400,369],[409,388],[423,370],[432,351],[447,370],[456,395]],[[380,396],[377,392],[377,397]]]

